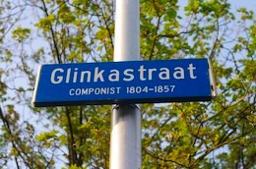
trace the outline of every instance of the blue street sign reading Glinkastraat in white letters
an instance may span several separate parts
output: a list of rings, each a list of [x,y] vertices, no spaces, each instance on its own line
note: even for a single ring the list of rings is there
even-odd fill
[[[35,107],[210,101],[207,59],[39,66]]]

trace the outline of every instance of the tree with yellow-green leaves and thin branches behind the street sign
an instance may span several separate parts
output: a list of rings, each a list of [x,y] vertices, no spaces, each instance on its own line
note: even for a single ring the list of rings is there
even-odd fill
[[[112,60],[114,1],[17,2],[0,9],[14,12],[11,7],[19,4],[20,16],[33,10],[38,18],[35,27],[10,25],[17,42],[8,50],[1,43],[1,166],[108,168],[111,106],[33,108],[30,101],[35,64]],[[253,168],[255,14],[246,8],[233,12],[226,0],[179,5],[141,0],[141,56],[210,58],[218,96],[212,102],[143,104],[142,168]],[[7,21],[0,19],[1,28]],[[40,43],[28,50],[37,40],[34,32]]]

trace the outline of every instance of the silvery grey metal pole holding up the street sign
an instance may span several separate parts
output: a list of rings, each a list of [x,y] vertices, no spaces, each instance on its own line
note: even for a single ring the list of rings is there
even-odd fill
[[[116,0],[114,61],[140,59],[140,2]],[[141,112],[115,105],[111,117],[110,169],[141,168]]]

